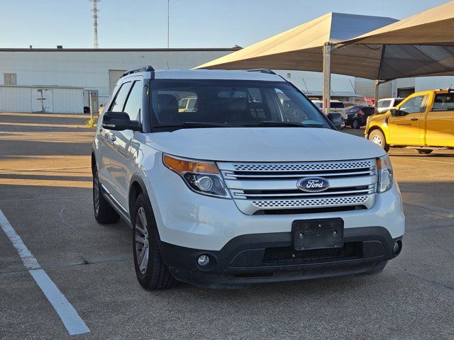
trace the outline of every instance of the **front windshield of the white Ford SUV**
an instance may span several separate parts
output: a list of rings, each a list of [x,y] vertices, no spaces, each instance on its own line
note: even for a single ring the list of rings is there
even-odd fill
[[[150,88],[153,129],[331,128],[307,98],[284,82],[155,79]]]

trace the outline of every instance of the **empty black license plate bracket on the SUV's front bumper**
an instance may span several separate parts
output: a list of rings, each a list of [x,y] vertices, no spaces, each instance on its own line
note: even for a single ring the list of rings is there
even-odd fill
[[[343,220],[294,220],[292,238],[295,250],[340,248],[343,246]]]

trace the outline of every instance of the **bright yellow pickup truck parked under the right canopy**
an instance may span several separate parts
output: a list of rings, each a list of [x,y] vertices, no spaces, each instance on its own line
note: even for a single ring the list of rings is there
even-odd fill
[[[386,151],[412,147],[420,154],[454,148],[454,89],[421,91],[396,108],[367,118],[365,137]]]

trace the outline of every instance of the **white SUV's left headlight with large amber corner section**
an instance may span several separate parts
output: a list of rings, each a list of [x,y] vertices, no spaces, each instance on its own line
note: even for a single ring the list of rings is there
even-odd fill
[[[231,198],[218,166],[214,162],[202,162],[162,154],[162,163],[179,174],[192,191],[202,195]]]

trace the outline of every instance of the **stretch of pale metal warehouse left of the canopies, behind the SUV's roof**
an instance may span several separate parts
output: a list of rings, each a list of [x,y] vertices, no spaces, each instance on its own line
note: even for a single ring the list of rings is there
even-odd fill
[[[0,111],[82,113],[89,91],[103,103],[126,69],[190,69],[235,50],[0,49]]]

